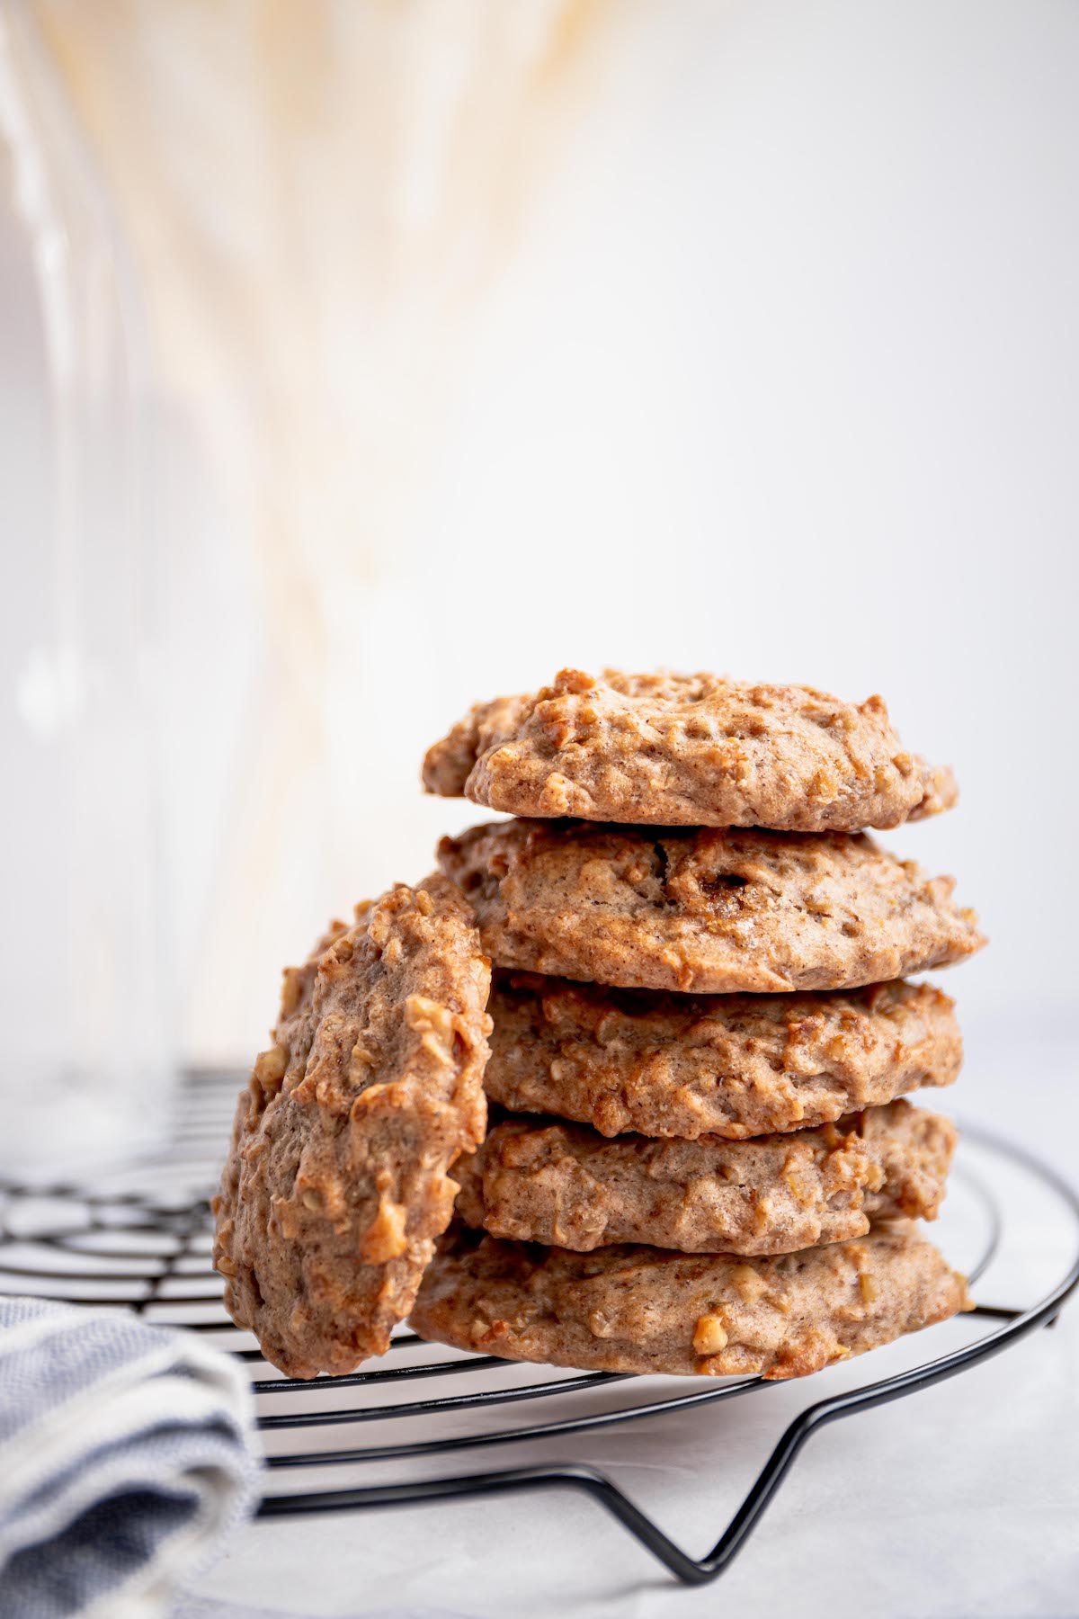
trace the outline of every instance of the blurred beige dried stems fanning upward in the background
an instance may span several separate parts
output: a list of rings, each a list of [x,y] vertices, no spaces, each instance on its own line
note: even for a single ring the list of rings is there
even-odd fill
[[[602,83],[608,5],[34,10],[259,580],[269,656],[199,950],[205,1026],[241,939],[325,887],[309,816],[328,797],[328,623],[408,534],[469,324]]]

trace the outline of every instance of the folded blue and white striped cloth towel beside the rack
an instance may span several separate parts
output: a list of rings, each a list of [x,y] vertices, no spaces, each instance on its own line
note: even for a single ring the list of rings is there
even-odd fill
[[[194,1334],[0,1298],[0,1614],[165,1614],[251,1512],[248,1379]]]

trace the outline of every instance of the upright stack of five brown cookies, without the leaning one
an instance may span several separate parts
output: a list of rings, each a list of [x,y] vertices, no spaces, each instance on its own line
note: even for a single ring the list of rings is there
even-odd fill
[[[788,1378],[945,1319],[919,1234],[954,1080],[946,996],[984,942],[864,835],[948,808],[883,703],[563,672],[477,706],[429,790],[519,819],[445,839],[495,967],[484,1085],[424,1337],[521,1360]]]

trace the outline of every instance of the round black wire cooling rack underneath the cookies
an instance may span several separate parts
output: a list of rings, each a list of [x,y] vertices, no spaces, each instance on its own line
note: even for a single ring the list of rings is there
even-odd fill
[[[92,1182],[31,1187],[0,1180],[0,1289],[83,1305],[123,1305],[146,1319],[205,1334],[251,1363],[267,1449],[267,1489],[259,1515],[267,1519],[569,1488],[605,1507],[679,1580],[705,1583],[746,1545],[810,1434],[840,1417],[956,1376],[1035,1328],[1051,1324],[1079,1282],[1076,1193],[1034,1158],[966,1130],[948,1200],[948,1205],[961,1200],[964,1229],[954,1240],[964,1251],[954,1253],[943,1237],[941,1247],[967,1271],[977,1292],[1001,1274],[1009,1287],[1021,1281],[1022,1297],[1009,1303],[979,1302],[974,1315],[963,1318],[975,1336],[959,1349],[917,1360],[893,1376],[844,1387],[799,1412],[715,1546],[704,1557],[692,1557],[618,1485],[587,1465],[587,1441],[582,1444],[581,1436],[611,1425],[662,1421],[665,1413],[721,1405],[778,1386],[762,1378],[561,1373],[458,1353],[408,1332],[395,1337],[387,1362],[375,1370],[314,1383],[280,1376],[262,1360],[254,1341],[225,1316],[220,1279],[210,1268],[207,1198],[239,1083],[235,1075],[189,1075],[168,1149],[138,1164],[95,1175]],[[1040,1269],[1032,1253],[1006,1251],[1014,1211],[1029,1211],[1037,1200]],[[1055,1234],[1053,1242],[1047,1243],[1047,1230]],[[932,1328],[906,1342],[917,1345],[916,1353],[922,1345],[929,1352],[940,1347],[941,1331]],[[874,1357],[857,1365],[870,1370]],[[413,1397],[414,1386],[419,1397]],[[500,1407],[516,1407],[516,1418],[503,1421]],[[448,1477],[427,1472],[437,1459],[456,1452],[532,1439],[565,1441],[574,1459]],[[345,1468],[351,1477],[358,1470],[362,1475],[370,1464],[398,1464],[409,1477],[322,1488],[324,1468]]]

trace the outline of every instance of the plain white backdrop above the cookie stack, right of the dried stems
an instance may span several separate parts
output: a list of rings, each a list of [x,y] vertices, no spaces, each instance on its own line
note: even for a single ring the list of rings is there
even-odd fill
[[[1079,8],[675,11],[476,358],[416,743],[558,662],[878,690],[963,787],[886,840],[984,915],[966,1005],[1066,1004]]]

